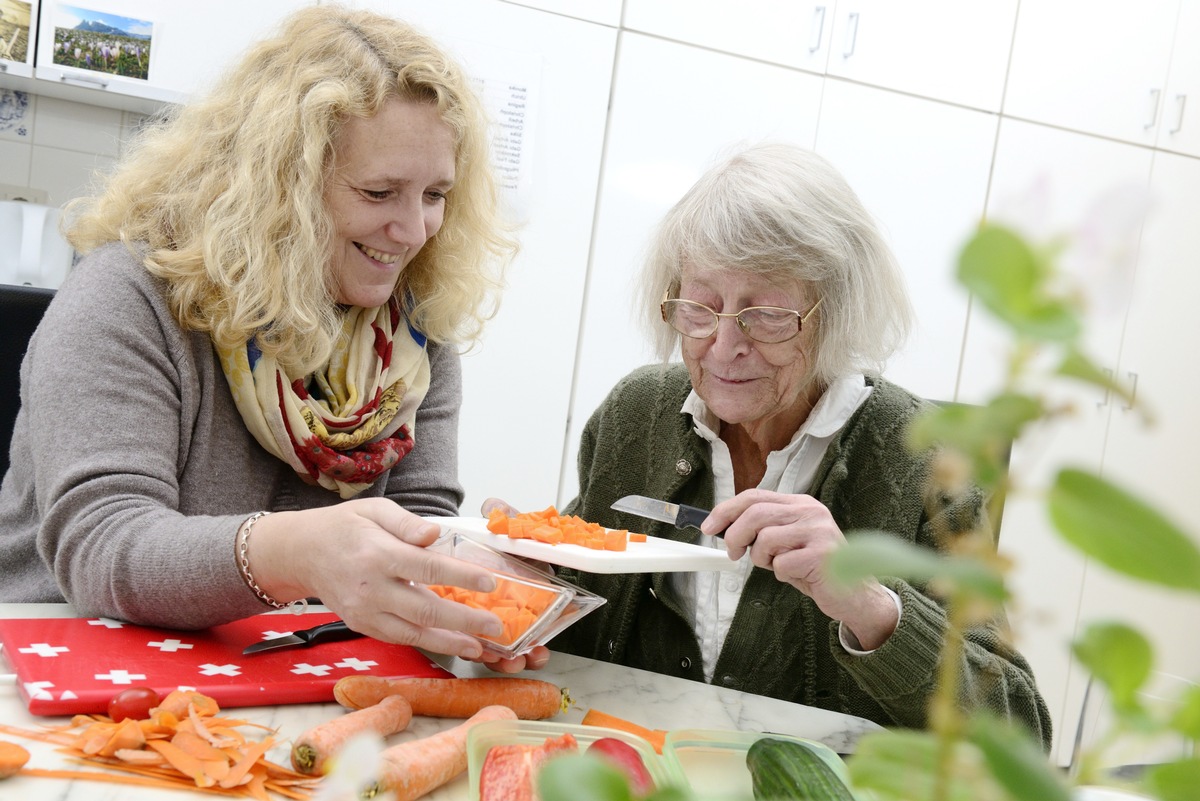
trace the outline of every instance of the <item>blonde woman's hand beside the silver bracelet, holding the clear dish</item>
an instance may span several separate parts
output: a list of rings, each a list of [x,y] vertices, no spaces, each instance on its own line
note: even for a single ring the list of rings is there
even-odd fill
[[[499,618],[440,598],[427,584],[490,592],[479,565],[427,549],[436,524],[382,498],[277,512],[254,524],[250,564],[280,601],[319,597],[356,632],[468,660],[482,648],[464,632],[497,636]]]

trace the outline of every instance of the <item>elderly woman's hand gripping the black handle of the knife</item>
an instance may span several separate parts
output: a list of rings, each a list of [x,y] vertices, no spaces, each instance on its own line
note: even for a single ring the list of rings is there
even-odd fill
[[[702,530],[725,530],[730,558],[748,550],[758,567],[775,573],[816,602],[821,612],[845,624],[863,650],[878,648],[895,631],[895,602],[878,582],[848,589],[830,583],[826,559],[845,541],[829,510],[811,495],[748,489],[718,504]]]

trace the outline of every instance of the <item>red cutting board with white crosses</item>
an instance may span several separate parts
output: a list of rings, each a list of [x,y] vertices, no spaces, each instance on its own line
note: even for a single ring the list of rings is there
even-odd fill
[[[34,715],[106,712],[133,686],[211,695],[222,707],[334,700],[342,676],[451,677],[408,645],[368,637],[242,656],[266,637],[337,620],[332,613],[263,614],[204,631],[149,628],[104,618],[0,620],[5,660]]]

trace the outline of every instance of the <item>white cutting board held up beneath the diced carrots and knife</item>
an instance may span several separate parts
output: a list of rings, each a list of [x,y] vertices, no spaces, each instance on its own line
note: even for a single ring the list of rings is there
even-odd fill
[[[662,537],[647,536],[646,542],[630,542],[625,550],[596,550],[583,546],[512,540],[487,530],[482,517],[427,517],[443,532],[457,531],[475,542],[503,550],[506,554],[536,559],[538,561],[588,573],[691,573],[701,571],[733,570],[725,550],[674,542]]]

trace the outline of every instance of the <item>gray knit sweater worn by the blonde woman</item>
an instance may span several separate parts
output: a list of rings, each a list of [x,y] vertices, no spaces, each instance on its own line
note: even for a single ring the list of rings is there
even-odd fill
[[[362,496],[457,514],[457,355],[430,344],[413,451]],[[206,335],[185,332],[164,284],[121,245],[84,258],[20,371],[0,489],[0,601],[68,601],[86,615],[200,628],[264,612],[234,560],[258,510],[338,501],[264,451],[241,422]]]

